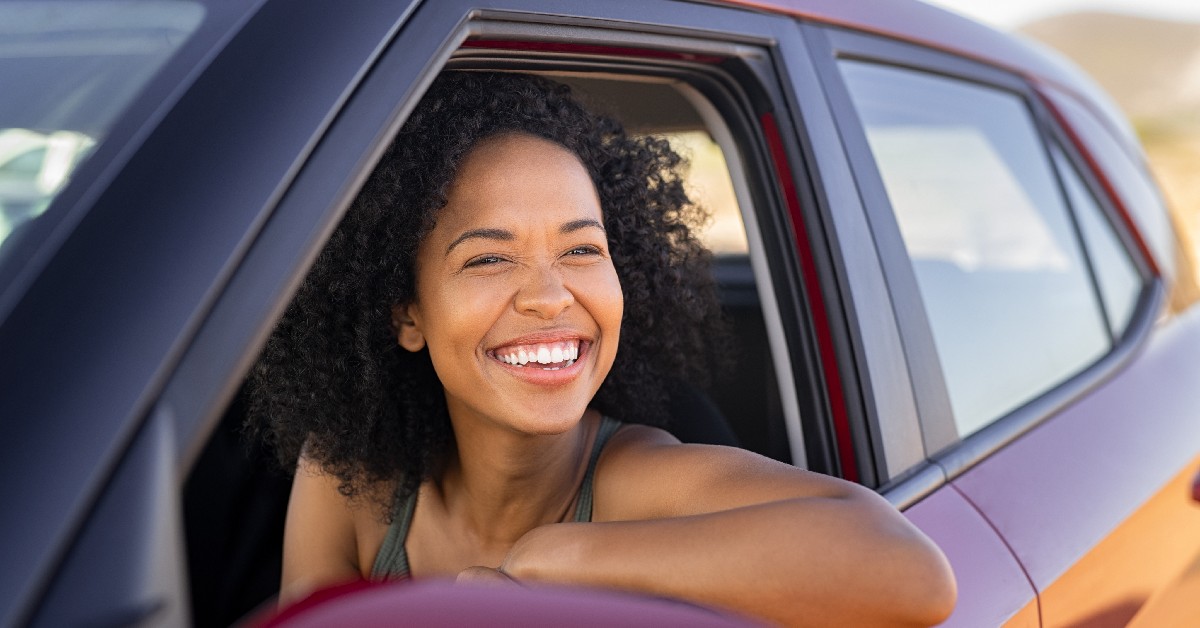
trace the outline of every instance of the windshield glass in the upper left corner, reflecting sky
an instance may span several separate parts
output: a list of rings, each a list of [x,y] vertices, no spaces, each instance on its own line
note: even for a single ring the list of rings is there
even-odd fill
[[[203,17],[187,1],[0,2],[0,253]]]

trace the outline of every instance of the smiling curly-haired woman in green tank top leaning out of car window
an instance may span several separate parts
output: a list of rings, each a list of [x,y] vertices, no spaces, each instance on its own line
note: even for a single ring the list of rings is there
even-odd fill
[[[946,560],[874,492],[649,425],[722,352],[678,161],[548,80],[438,79],[256,369],[299,460],[282,600],[445,576],[946,617]]]

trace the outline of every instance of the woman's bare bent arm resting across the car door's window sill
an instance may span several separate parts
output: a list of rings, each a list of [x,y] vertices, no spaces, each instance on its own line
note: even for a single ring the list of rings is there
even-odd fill
[[[934,624],[954,606],[941,551],[862,486],[755,454],[613,438],[596,524],[535,528],[502,569],[725,606],[791,626]]]

